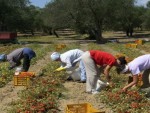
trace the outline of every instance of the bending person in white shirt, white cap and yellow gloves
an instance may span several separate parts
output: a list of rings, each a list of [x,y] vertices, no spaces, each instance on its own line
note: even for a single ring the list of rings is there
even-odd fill
[[[69,50],[65,53],[58,53],[58,52],[53,52],[51,54],[51,60],[53,61],[60,61],[61,66],[57,68],[55,71],[62,71],[62,70],[67,70],[70,69],[79,62],[79,68],[80,68],[80,81],[81,83],[86,82],[86,72],[85,72],[85,67],[83,65],[83,62],[81,60],[81,55],[84,52],[80,49],[73,49]]]

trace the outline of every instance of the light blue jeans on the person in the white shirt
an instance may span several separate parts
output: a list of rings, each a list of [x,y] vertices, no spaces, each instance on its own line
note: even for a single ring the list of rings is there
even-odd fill
[[[86,80],[86,71],[82,60],[80,60],[79,68],[81,73],[80,74],[81,81],[84,81]]]

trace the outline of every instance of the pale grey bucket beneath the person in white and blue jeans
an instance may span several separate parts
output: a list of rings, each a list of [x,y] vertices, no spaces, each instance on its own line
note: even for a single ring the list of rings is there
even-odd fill
[[[80,68],[72,68],[72,70],[68,70],[67,73],[71,76],[74,81],[80,80]]]

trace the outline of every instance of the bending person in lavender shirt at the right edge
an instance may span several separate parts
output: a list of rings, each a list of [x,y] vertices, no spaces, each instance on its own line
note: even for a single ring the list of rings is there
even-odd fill
[[[143,85],[141,88],[148,88],[150,87],[150,54],[139,56],[127,65],[118,68],[118,73],[131,73],[133,78],[132,82],[126,85],[122,90],[126,92],[128,88],[136,85],[138,83],[138,75],[142,74],[142,72]]]

